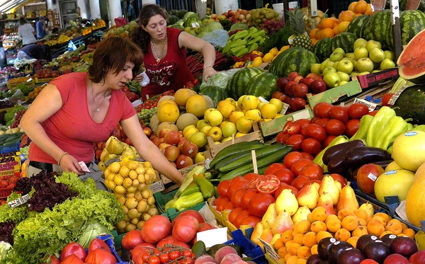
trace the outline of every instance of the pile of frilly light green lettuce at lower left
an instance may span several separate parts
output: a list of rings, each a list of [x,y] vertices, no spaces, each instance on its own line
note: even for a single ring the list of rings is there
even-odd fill
[[[12,220],[16,224],[13,247],[0,263],[42,263],[45,257],[60,253],[67,243],[78,241],[89,226],[101,225],[104,230],[112,231],[123,219],[123,210],[115,196],[97,190],[91,178],[83,183],[77,174],[62,173],[55,181],[64,183],[78,195],[40,213],[29,212],[26,205],[13,209],[8,205],[0,207],[0,222]]]

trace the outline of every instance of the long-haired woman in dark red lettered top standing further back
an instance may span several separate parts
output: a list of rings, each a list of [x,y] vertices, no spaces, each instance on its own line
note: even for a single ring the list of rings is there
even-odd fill
[[[160,6],[148,4],[142,8],[139,17],[140,28],[133,30],[131,40],[142,48],[145,54],[145,68],[149,84],[142,88],[142,99],[164,91],[183,88],[193,74],[186,66],[186,47],[203,52],[203,80],[217,73],[214,47],[200,38],[176,28],[166,27],[166,12]],[[136,77],[142,81],[142,76]]]

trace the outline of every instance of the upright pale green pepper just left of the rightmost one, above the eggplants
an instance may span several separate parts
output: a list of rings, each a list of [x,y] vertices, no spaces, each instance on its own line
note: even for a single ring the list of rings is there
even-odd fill
[[[368,135],[366,137],[366,143],[368,147],[377,147],[378,139],[384,130],[387,122],[390,121],[392,117],[395,116],[395,110],[387,106],[380,108],[375,117],[373,117],[372,122],[370,122]]]

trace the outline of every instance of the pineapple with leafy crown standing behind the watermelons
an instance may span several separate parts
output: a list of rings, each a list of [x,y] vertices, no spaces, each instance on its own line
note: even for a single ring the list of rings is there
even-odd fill
[[[299,8],[288,12],[289,25],[293,29],[293,47],[304,47],[307,50],[312,50],[312,39],[305,30],[304,14]]]

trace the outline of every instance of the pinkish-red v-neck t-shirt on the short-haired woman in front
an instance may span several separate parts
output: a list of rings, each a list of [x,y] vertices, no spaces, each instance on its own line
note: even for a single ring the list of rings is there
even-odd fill
[[[120,120],[136,114],[135,108],[123,91],[112,91],[108,114],[101,123],[91,119],[87,105],[87,74],[77,72],[57,77],[55,84],[62,97],[62,108],[42,122],[42,128],[63,151],[77,161],[89,162],[94,158],[94,143],[104,142]],[[30,161],[56,163],[33,142],[29,149]]]

